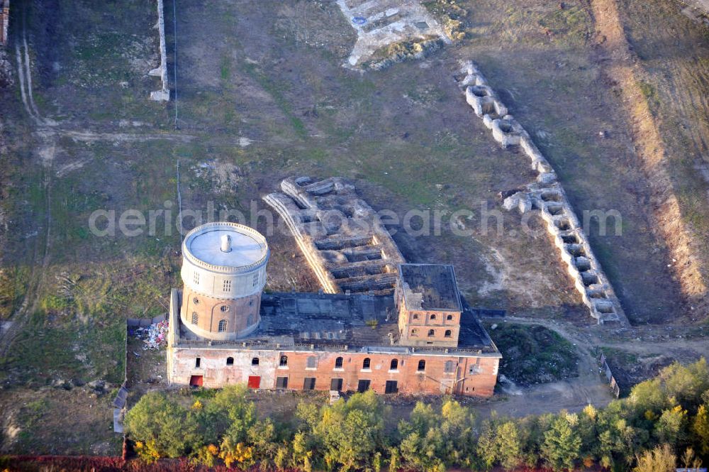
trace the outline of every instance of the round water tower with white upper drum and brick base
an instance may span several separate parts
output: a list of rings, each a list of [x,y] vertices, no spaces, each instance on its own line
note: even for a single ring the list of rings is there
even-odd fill
[[[269,248],[258,231],[237,223],[208,223],[182,243],[180,318],[197,336],[242,338],[259,326]]]

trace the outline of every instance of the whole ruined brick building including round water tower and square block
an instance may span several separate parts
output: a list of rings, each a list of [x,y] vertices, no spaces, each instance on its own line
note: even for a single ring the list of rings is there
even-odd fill
[[[173,385],[490,396],[501,355],[451,265],[398,265],[396,290],[264,294],[269,248],[247,226],[210,223],[182,246],[172,290]]]

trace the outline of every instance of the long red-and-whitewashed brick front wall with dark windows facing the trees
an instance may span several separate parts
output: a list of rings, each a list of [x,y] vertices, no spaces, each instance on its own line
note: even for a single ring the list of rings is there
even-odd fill
[[[343,391],[357,390],[359,380],[369,380],[369,388],[385,393],[387,381],[395,381],[399,393],[456,393],[481,397],[493,394],[499,363],[499,358],[493,356],[257,351],[216,346],[169,348],[168,356],[169,380],[176,385],[188,385],[193,375],[201,375],[202,385],[210,388],[249,381],[253,385],[257,381],[259,388],[272,389],[277,388],[279,378],[287,378],[286,388],[302,390],[307,378],[315,379],[316,390],[330,390],[331,381],[336,378],[342,379]],[[281,356],[287,356],[286,366],[279,365]],[[199,367],[196,358],[199,358]],[[228,358],[232,358],[233,363],[228,364]],[[252,363],[253,358],[258,358],[258,365]],[[312,358],[311,363],[308,358]],[[342,358],[341,367],[337,358]],[[364,368],[365,358],[369,358],[369,368]],[[395,359],[396,368],[392,369]],[[425,362],[423,370],[419,369],[420,361]]]

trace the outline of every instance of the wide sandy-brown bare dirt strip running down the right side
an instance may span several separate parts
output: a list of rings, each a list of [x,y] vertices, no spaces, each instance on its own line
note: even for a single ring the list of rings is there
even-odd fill
[[[703,248],[700,235],[686,224],[675,194],[665,143],[647,97],[638,82],[642,68],[632,52],[620,20],[616,0],[591,0],[593,19],[601,47],[598,58],[611,84],[618,84],[636,154],[642,164],[652,191],[654,220],[659,234],[676,260],[672,267],[681,283],[683,293],[693,304],[704,306],[707,295]]]

